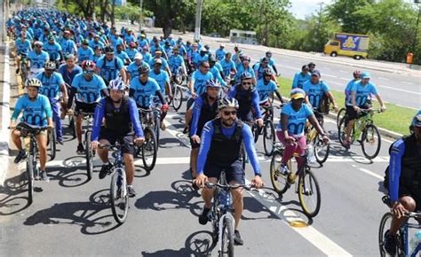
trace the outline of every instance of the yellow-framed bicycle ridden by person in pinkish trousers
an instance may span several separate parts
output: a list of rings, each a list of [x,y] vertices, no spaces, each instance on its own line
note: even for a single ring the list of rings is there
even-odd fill
[[[292,184],[295,184],[295,191],[298,193],[299,204],[301,205],[304,213],[308,217],[315,217],[319,214],[322,202],[322,195],[320,186],[317,182],[315,175],[307,164],[307,156],[305,158],[305,165],[297,172],[293,171],[292,158],[288,160],[287,171],[282,172],[282,156],[284,147],[282,144],[274,145],[274,155],[272,156],[270,164],[270,178],[274,191],[282,195],[285,193]],[[306,153],[307,154],[307,153]],[[297,156],[294,154],[294,156]],[[298,183],[297,183],[298,175]],[[314,197],[314,199],[313,199]]]

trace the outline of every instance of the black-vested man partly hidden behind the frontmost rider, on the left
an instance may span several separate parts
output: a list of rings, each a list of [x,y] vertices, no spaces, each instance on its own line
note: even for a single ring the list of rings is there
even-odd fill
[[[193,120],[190,126],[190,144],[192,146],[192,150],[190,151],[190,172],[193,179],[196,177],[196,163],[197,156],[199,155],[200,136],[202,136],[203,126],[206,122],[217,117],[220,89],[221,84],[218,81],[208,81],[206,83],[206,92],[195,99]]]

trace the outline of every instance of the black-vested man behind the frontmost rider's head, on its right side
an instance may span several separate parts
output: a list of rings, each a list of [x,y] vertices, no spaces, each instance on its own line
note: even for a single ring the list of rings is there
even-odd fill
[[[258,90],[253,88],[253,77],[248,72],[241,76],[241,82],[228,91],[229,98],[239,103],[237,117],[246,123],[253,122],[256,117],[258,127],[263,126],[262,112],[259,106]],[[254,113],[253,113],[254,111]]]

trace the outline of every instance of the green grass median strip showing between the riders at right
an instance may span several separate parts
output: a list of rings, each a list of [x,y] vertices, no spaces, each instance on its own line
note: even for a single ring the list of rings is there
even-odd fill
[[[280,78],[278,79],[278,83],[280,84],[282,97],[289,97],[292,80]],[[345,102],[344,92],[337,90],[331,90],[331,92],[333,97],[335,97],[339,108],[342,107],[342,103]],[[385,128],[402,135],[409,134],[409,123],[417,111],[390,103],[386,103],[385,105],[387,108],[385,113],[377,113],[374,115],[374,122],[377,127]],[[380,108],[377,101],[374,101],[374,108]]]

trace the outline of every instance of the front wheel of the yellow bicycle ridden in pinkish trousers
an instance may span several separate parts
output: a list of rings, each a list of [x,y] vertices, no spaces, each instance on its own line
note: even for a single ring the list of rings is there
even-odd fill
[[[319,213],[322,196],[319,183],[309,167],[306,167],[304,175],[298,178],[298,199],[308,217],[313,218]]]

